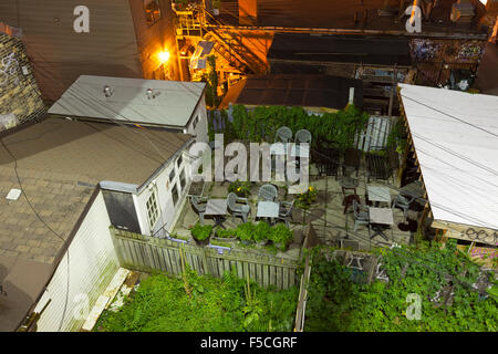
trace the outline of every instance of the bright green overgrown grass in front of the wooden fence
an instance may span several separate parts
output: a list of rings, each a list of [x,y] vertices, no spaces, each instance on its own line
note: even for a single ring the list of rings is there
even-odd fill
[[[299,290],[262,289],[237,278],[198,275],[188,266],[185,279],[152,275],[125,299],[117,312],[105,311],[102,332],[257,332],[292,331]],[[250,295],[249,295],[250,293]]]

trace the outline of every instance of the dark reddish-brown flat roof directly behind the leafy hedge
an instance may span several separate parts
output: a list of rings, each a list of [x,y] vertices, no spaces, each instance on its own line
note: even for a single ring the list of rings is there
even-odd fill
[[[350,87],[354,87],[354,104],[357,107],[363,105],[363,83],[354,79],[301,74],[250,75],[240,85],[243,87],[235,86],[238,95],[230,96],[231,103],[342,110],[347,105]]]

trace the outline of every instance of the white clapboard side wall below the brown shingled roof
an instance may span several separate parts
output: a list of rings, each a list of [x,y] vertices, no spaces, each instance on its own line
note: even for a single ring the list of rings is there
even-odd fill
[[[39,301],[41,306],[51,300],[38,321],[38,331],[81,329],[118,269],[110,225],[104,198],[98,192]]]

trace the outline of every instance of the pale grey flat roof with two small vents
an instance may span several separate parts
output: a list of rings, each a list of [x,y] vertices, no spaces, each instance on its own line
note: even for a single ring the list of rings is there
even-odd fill
[[[110,86],[112,95],[104,95]],[[49,110],[51,114],[184,127],[206,83],[81,75]],[[152,88],[155,98],[145,94]]]

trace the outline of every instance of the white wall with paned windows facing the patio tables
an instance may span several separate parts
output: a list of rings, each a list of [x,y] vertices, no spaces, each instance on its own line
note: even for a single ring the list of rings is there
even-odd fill
[[[142,233],[144,235],[154,235],[157,230],[159,230],[163,226],[166,225],[166,230],[170,231],[176,222],[180,211],[181,206],[186,199],[188,189],[190,187],[190,170],[189,170],[189,159],[187,152],[183,152],[183,162],[178,166],[178,156],[175,157],[174,160],[169,163],[166,168],[159,173],[159,175],[155,178],[155,186],[151,188],[145,188],[141,194],[134,198],[136,205],[136,210],[138,214],[138,219],[143,220]],[[175,177],[173,180],[169,180],[169,175],[172,169],[175,168]],[[185,170],[186,185],[184,188],[180,186],[180,173]],[[174,186],[178,188],[178,201],[176,205],[173,204],[173,194],[172,190]],[[159,211],[159,217],[151,230],[147,215],[147,200],[153,194],[153,190],[157,194],[157,204]]]

